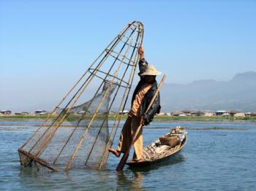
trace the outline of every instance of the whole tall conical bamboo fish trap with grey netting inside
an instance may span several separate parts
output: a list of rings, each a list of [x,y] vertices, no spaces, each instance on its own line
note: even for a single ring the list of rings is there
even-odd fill
[[[127,103],[142,41],[143,24],[134,21],[110,42],[18,149],[21,165],[50,171],[100,169],[106,165],[108,147],[113,144]],[[109,125],[111,109],[116,109],[116,116]]]

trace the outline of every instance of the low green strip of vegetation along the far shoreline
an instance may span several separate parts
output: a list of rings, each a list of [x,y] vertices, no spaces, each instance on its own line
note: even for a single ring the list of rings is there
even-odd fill
[[[47,114],[33,115],[33,114],[20,114],[20,115],[1,115],[0,120],[45,120]],[[86,120],[90,120],[93,115],[89,114],[84,117]],[[56,117],[56,114],[50,118]],[[70,115],[67,117],[67,121],[78,120],[81,115]],[[104,120],[105,115],[97,115],[95,120]],[[126,120],[127,114],[123,114],[121,120]],[[116,120],[116,114],[109,114],[108,120]],[[255,121],[256,117],[222,117],[222,116],[187,116],[187,117],[176,117],[176,116],[155,116],[154,122],[176,122],[176,121],[203,121],[203,122],[214,122],[214,121]]]

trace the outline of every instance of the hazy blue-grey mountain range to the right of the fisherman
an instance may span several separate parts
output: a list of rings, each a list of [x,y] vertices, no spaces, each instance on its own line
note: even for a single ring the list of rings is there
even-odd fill
[[[181,109],[255,111],[256,72],[236,74],[227,82],[208,79],[187,85],[164,84],[161,95],[163,111]]]

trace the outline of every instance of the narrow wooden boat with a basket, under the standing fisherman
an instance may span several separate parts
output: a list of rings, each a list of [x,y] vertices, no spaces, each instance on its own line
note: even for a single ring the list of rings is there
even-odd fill
[[[174,141],[176,137],[178,141]],[[181,126],[177,126],[170,130],[165,136],[160,137],[157,141],[143,148],[143,161],[135,163],[129,160],[127,165],[131,167],[140,167],[147,165],[154,165],[167,160],[170,156],[175,155],[181,151],[187,144],[187,130]]]

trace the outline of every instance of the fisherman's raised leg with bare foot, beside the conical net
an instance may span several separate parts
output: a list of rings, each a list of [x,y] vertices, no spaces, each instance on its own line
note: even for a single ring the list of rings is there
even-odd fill
[[[121,152],[127,152],[129,144],[131,144],[131,122],[132,117],[127,117],[127,120],[125,121],[124,126],[121,130],[121,135],[118,141],[117,149],[108,149],[108,151],[112,152],[114,155],[116,155],[116,157],[119,157]]]

